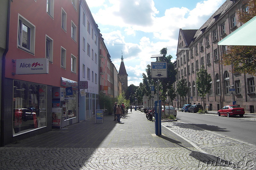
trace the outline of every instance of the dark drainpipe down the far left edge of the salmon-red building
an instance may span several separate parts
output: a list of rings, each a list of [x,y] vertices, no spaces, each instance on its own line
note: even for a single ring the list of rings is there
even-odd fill
[[[5,50],[2,58],[2,93],[1,93],[1,146],[4,146],[4,83],[5,83],[5,56],[9,50],[9,28],[10,28],[11,0],[8,0]]]

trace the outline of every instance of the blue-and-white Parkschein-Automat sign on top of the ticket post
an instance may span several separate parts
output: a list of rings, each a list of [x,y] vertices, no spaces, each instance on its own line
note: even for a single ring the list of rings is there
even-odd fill
[[[167,63],[166,62],[151,62],[151,77],[152,78],[167,78]]]

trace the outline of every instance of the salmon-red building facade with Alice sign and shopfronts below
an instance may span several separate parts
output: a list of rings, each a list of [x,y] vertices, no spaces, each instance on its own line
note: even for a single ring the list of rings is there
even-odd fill
[[[11,1],[1,144],[78,122],[78,5]]]

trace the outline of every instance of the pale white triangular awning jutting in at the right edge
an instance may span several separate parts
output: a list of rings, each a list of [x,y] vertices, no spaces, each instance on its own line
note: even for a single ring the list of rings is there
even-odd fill
[[[256,16],[218,42],[218,45],[256,46]]]

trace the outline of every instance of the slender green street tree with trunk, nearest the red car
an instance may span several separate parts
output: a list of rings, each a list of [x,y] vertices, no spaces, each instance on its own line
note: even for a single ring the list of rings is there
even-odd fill
[[[202,65],[201,69],[196,73],[196,76],[196,89],[198,95],[203,98],[203,107],[205,108],[204,97],[210,92],[212,78],[211,75],[207,73],[207,70],[204,69],[204,65]]]

